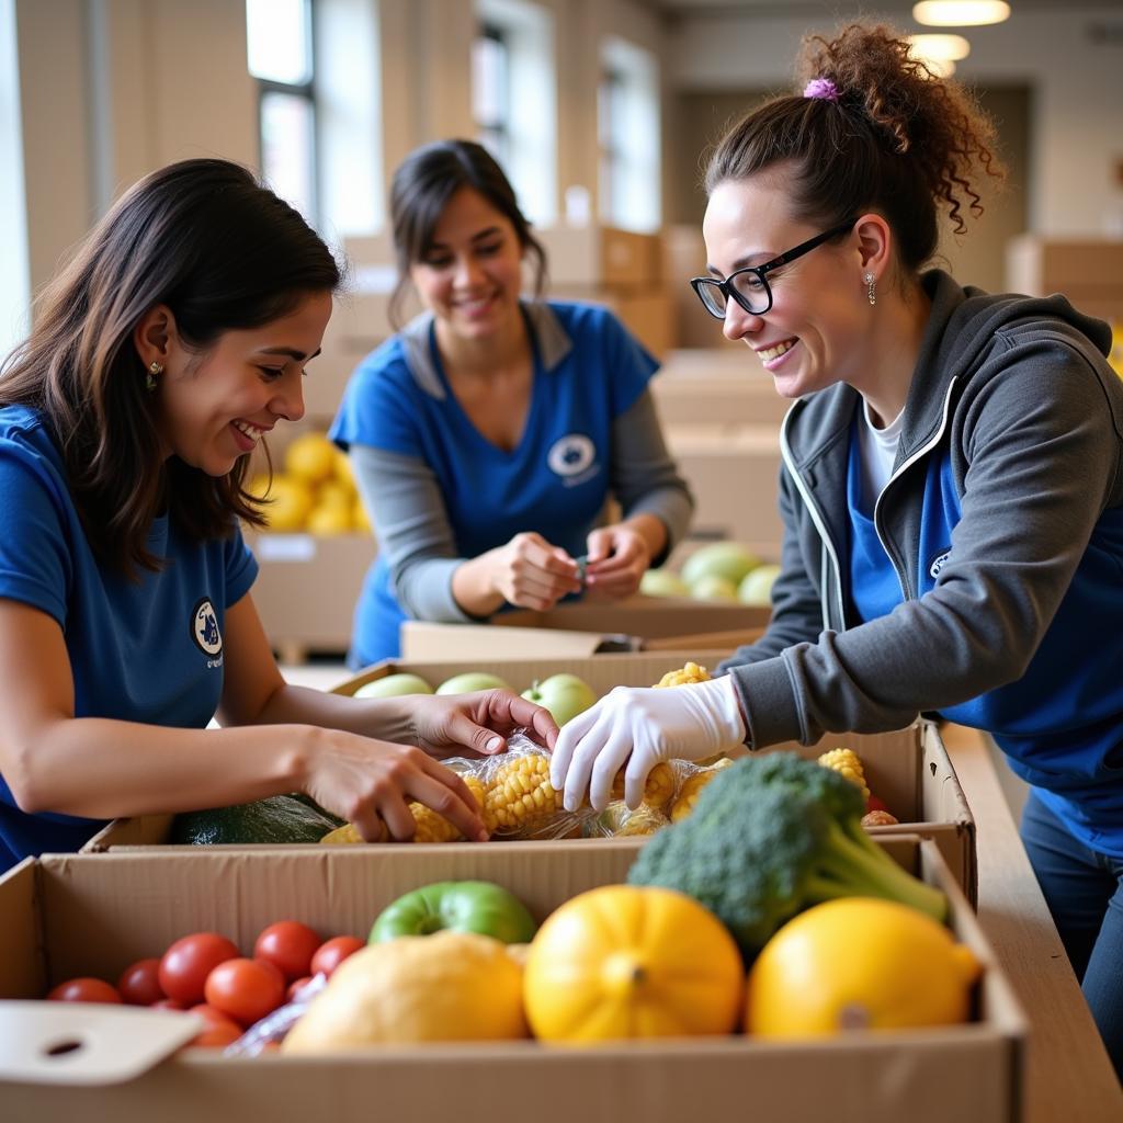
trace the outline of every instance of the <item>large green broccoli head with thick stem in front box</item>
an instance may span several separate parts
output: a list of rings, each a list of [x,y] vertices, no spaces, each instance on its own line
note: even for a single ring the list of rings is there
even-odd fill
[[[862,830],[861,793],[794,752],[746,757],[659,831],[628,875],[694,897],[751,960],[788,917],[833,897],[884,897],[935,920],[943,894],[905,873]]]

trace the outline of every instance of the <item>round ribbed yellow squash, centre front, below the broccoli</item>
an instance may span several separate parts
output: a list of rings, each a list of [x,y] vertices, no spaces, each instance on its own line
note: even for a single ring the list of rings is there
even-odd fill
[[[608,885],[554,912],[530,944],[527,1017],[544,1041],[729,1033],[741,957],[721,922],[672,889]]]

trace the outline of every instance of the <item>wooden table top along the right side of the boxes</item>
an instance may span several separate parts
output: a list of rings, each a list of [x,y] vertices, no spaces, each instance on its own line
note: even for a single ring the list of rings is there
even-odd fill
[[[1033,876],[984,734],[944,725],[942,736],[975,816],[979,920],[1030,1021],[1022,1117],[1121,1123],[1123,1089]]]

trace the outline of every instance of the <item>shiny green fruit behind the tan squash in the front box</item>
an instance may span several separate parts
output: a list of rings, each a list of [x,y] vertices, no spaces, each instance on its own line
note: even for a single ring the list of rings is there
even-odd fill
[[[477,932],[503,943],[530,943],[538,925],[510,891],[491,882],[437,882],[413,889],[386,905],[374,922],[367,943],[400,935]]]

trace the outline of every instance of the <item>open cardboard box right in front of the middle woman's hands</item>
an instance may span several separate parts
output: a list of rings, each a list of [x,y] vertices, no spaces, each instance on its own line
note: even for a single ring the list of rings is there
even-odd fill
[[[642,651],[652,642],[709,632],[736,631],[748,638],[702,646],[731,651],[751,642],[766,627],[770,608],[690,601],[668,596],[629,596],[610,603],[562,604],[548,612],[501,612],[486,624],[442,624],[408,620],[401,628],[405,659],[503,659],[588,656],[599,651]],[[659,643],[666,647],[665,643]],[[682,645],[674,645],[681,647]]]

